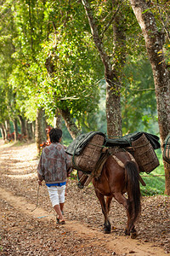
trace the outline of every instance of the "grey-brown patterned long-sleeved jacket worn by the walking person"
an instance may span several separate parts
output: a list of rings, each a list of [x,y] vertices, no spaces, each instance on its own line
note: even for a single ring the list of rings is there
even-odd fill
[[[46,183],[63,183],[66,181],[67,171],[71,168],[71,155],[65,153],[65,146],[51,143],[42,149],[37,166],[39,180]]]

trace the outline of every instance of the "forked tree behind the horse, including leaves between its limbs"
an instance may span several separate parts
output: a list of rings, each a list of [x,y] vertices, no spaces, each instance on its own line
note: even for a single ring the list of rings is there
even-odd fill
[[[90,4],[82,0],[82,4],[94,44],[105,67],[107,134],[109,137],[122,136],[120,77],[126,54],[126,22],[121,12],[122,1],[108,1],[108,8],[104,2]],[[99,15],[102,13],[104,15]],[[101,20],[105,20],[105,23],[102,24]]]

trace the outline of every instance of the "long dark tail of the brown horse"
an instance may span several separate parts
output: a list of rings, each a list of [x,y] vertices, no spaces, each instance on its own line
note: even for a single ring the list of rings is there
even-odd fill
[[[125,177],[127,183],[128,212],[130,215],[130,229],[139,216],[141,210],[141,194],[139,187],[139,169],[134,161],[127,161],[125,164]]]

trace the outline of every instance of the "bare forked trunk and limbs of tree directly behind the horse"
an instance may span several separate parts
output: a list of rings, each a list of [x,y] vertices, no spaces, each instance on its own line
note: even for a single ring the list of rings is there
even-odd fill
[[[118,5],[120,1],[112,1],[112,7]],[[89,26],[94,38],[94,44],[99,51],[101,61],[105,67],[105,81],[106,81],[106,119],[107,119],[107,135],[108,137],[119,137],[122,136],[122,112],[121,112],[121,95],[120,78],[122,73],[122,67],[125,63],[125,23],[123,22],[123,15],[121,16],[118,12],[113,14],[111,24],[113,26],[113,55],[119,55],[117,62],[111,62],[114,58],[107,55],[103,37],[104,32],[108,28],[105,26],[103,34],[99,34],[97,21],[94,18],[93,10],[87,0],[82,0],[84,9],[88,16]],[[114,9],[114,8],[113,8]],[[123,24],[123,26],[122,26]],[[117,43],[117,44],[116,44]],[[121,50],[120,50],[121,49]],[[117,54],[119,53],[119,54]]]

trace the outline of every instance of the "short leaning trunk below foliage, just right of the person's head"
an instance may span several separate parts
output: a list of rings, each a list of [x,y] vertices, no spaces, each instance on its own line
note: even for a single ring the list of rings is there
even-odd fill
[[[67,130],[70,132],[71,137],[75,139],[81,131],[78,130],[77,125],[75,125],[74,119],[71,118],[69,110],[60,109],[60,113],[62,114],[62,117],[65,120],[65,126]]]

